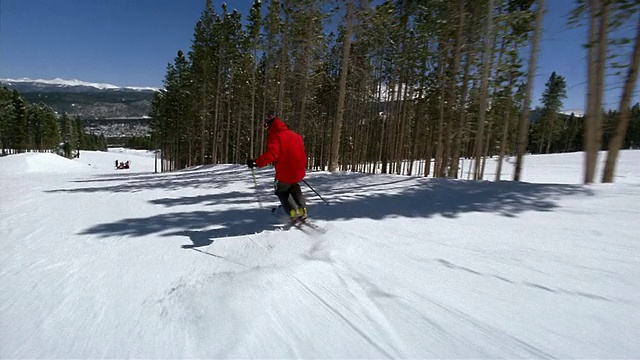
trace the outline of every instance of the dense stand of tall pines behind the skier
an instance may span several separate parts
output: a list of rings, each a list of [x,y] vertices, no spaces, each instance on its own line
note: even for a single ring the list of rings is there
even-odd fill
[[[585,30],[611,25],[599,27],[605,42],[638,10],[627,0],[575,4]],[[517,154],[518,180],[524,153],[577,150],[593,128],[558,115],[562,96],[545,102],[545,121],[531,126],[544,0],[256,0],[245,21],[221,9],[206,0],[189,50],[167,65],[154,98],[164,171],[255,157],[269,114],[303,135],[311,168],[411,174],[415,167],[402,163],[434,159],[424,175],[439,177],[458,176],[458,159],[468,157],[482,178],[486,156]],[[583,122],[594,118],[592,110]],[[584,144],[607,137],[598,124],[599,138],[583,136]]]

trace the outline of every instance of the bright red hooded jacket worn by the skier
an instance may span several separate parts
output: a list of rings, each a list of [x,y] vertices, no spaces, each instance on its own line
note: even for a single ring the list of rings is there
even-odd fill
[[[258,167],[273,163],[276,180],[295,184],[306,174],[307,153],[302,136],[289,130],[280,119],[274,119],[267,136],[267,151],[256,159]]]

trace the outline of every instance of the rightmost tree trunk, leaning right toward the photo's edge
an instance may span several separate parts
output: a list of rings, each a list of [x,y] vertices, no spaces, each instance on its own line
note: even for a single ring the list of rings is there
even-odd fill
[[[629,125],[631,98],[638,81],[638,64],[640,64],[640,22],[637,26],[635,45],[633,47],[629,69],[627,70],[627,78],[622,90],[622,97],[620,98],[618,126],[616,127],[613,138],[611,138],[611,141],[609,142],[609,152],[607,154],[604,173],[602,175],[603,183],[613,182],[618,154],[620,153],[620,148],[624,142],[627,127]]]

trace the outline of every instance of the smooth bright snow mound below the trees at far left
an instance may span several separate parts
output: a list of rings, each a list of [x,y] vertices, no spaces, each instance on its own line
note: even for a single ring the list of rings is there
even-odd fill
[[[86,164],[52,153],[23,153],[0,158],[0,174],[78,173],[90,168]]]

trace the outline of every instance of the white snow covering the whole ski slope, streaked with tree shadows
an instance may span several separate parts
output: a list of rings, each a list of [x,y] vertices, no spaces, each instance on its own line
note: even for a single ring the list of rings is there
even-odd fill
[[[153,156],[0,158],[0,358],[640,356],[640,151],[589,186],[579,153],[313,172],[315,235],[278,230],[272,168]]]

